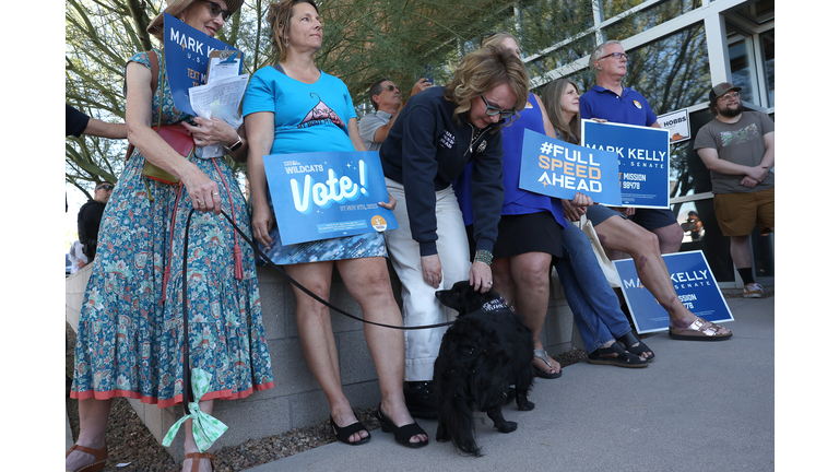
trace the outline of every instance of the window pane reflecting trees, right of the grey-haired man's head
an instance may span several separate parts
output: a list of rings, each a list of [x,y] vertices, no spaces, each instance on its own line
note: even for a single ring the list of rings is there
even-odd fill
[[[628,54],[624,85],[640,92],[655,115],[708,99],[711,73],[701,23]]]

